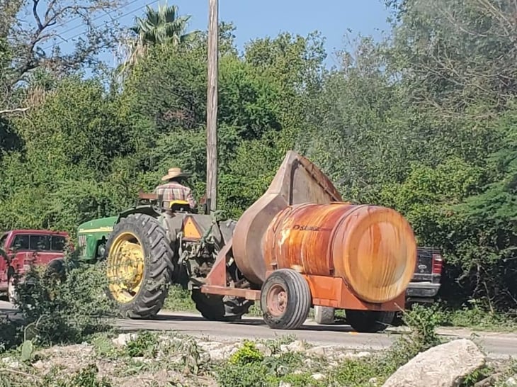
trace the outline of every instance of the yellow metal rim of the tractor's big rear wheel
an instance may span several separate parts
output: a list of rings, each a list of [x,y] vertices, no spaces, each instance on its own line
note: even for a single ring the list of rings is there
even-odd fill
[[[132,232],[115,237],[108,253],[108,281],[113,298],[129,303],[142,287],[144,278],[144,249]]]

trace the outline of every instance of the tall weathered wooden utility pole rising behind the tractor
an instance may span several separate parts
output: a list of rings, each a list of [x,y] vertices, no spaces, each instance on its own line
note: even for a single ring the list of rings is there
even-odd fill
[[[217,77],[219,55],[219,0],[208,0],[207,89],[207,210],[217,208]]]

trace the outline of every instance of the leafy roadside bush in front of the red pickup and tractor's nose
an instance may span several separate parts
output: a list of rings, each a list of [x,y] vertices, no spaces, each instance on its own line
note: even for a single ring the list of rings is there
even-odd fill
[[[103,269],[103,263],[86,264],[67,254],[60,267],[31,267],[23,282],[15,278],[23,330],[16,330],[6,349],[22,339],[40,345],[76,343],[110,330],[115,308],[104,292]]]

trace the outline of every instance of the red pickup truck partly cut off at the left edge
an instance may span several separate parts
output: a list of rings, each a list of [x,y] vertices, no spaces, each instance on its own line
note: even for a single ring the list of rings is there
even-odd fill
[[[67,232],[50,230],[11,230],[0,237],[0,291],[8,293],[12,303],[16,298],[13,274],[21,276],[31,264],[50,264],[64,256],[69,241]]]

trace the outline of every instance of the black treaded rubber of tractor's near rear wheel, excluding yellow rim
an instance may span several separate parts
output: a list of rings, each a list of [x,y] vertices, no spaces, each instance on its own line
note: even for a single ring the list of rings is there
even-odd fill
[[[140,288],[133,292],[135,294],[131,294],[132,299],[127,302],[120,301],[114,296],[109,286],[106,293],[118,305],[123,317],[153,318],[163,307],[169,286],[174,279],[174,252],[164,228],[155,218],[142,213],[128,215],[115,225],[106,243],[108,270],[110,264],[113,264],[113,242],[119,235],[127,233],[137,237],[143,249],[144,269]]]

